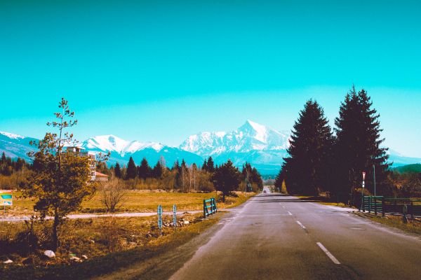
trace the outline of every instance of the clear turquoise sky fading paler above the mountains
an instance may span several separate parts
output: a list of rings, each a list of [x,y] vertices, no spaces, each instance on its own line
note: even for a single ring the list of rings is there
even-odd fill
[[[419,1],[0,0],[0,130],[43,137],[65,97],[76,139],[178,146],[247,119],[290,130],[307,99],[334,125],[354,84],[385,145],[421,157],[420,15]]]

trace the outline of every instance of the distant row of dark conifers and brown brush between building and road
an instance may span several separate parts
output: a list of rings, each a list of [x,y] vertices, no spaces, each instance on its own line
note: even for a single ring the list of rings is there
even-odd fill
[[[98,165],[102,173],[123,179],[132,188],[160,188],[183,192],[220,190],[223,195],[229,195],[234,190],[246,190],[246,179],[249,183],[247,191],[257,191],[263,188],[263,181],[257,169],[246,162],[240,170],[231,160],[218,166],[209,157],[198,167],[195,163],[187,165],[185,160],[180,163],[176,160],[171,168],[166,166],[164,158],[156,162],[154,167],[143,158],[137,166],[133,158],[128,160],[128,165],[121,167],[119,162],[107,169],[107,165]]]

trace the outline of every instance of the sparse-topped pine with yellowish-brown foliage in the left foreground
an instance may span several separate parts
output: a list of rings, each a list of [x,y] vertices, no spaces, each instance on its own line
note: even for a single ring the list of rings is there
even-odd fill
[[[20,185],[25,197],[34,197],[34,210],[39,211],[41,218],[53,216],[51,243],[55,251],[59,245],[58,228],[64,218],[76,211],[86,197],[95,192],[96,183],[90,181],[91,171],[89,159],[80,153],[65,151],[65,144],[74,143],[73,134],[67,132],[76,125],[72,120],[74,112],[69,110],[67,101],[62,98],[59,103],[60,112],[54,113],[57,118],[47,123],[58,129],[58,133],[47,132],[44,139],[30,144],[39,151],[28,155],[39,162],[39,168],[29,174],[27,180]]]

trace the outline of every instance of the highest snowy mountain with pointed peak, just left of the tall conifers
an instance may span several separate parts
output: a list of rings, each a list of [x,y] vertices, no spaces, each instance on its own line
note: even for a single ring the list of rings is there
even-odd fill
[[[247,120],[238,130],[232,132],[194,134],[180,148],[205,157],[233,152],[284,151],[288,148],[288,134]]]

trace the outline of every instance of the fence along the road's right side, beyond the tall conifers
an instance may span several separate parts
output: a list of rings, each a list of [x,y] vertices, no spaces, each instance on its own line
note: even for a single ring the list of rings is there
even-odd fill
[[[412,219],[421,218],[421,200],[394,197],[363,197],[360,211],[390,215],[410,215]]]

